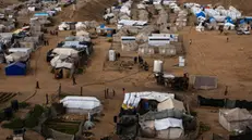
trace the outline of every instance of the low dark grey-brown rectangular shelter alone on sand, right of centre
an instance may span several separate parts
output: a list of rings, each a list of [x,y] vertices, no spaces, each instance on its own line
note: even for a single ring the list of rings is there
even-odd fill
[[[216,89],[217,78],[211,76],[195,76],[193,79],[193,88],[195,89]]]

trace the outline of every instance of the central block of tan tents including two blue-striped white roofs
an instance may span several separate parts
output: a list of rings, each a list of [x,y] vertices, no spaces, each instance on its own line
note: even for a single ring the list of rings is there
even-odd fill
[[[180,54],[182,46],[179,42],[177,28],[187,25],[188,12],[181,10],[172,1],[164,2],[178,15],[176,24],[169,23],[168,11],[160,4],[160,1],[143,0],[136,4],[137,20],[118,18],[118,31],[113,35],[113,43],[120,43],[123,51],[137,51],[140,55],[158,53],[171,56]],[[124,1],[121,7],[131,5],[130,3],[132,2]],[[127,8],[129,8],[127,11],[131,11],[131,7]],[[154,18],[154,15],[157,18]]]

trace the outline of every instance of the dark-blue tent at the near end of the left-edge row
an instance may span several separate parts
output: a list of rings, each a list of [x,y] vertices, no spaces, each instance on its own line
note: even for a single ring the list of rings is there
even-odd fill
[[[26,65],[21,62],[15,62],[5,67],[7,76],[24,76],[26,74]]]

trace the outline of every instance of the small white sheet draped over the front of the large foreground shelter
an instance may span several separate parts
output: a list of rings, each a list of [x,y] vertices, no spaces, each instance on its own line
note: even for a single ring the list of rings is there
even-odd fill
[[[183,129],[182,119],[177,119],[177,118],[155,119],[155,129],[156,130],[165,130],[168,128],[181,128],[181,129]]]

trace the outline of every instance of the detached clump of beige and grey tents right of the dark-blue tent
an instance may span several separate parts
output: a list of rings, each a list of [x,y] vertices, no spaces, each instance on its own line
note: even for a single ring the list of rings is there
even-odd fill
[[[75,35],[65,37],[64,41],[58,43],[57,48],[47,54],[56,78],[70,78],[76,69],[87,65],[93,52],[93,43],[87,29],[94,28],[93,22],[63,22],[59,30],[75,30]]]

